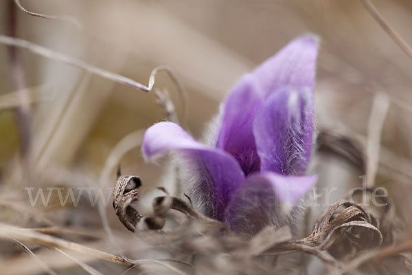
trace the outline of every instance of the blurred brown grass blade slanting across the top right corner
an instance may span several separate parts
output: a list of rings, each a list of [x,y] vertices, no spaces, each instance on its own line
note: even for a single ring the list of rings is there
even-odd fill
[[[401,47],[401,49],[407,54],[410,58],[412,58],[412,48],[411,46],[408,45],[407,41],[404,41],[402,39],[402,36],[396,32],[396,30],[393,30],[389,23],[385,20],[385,18],[382,17],[382,14],[380,14],[379,10],[374,6],[374,4],[370,0],[361,0],[361,3],[363,6],[366,8],[366,10],[371,14],[372,17],[378,22],[380,27],[382,27],[389,36]]]

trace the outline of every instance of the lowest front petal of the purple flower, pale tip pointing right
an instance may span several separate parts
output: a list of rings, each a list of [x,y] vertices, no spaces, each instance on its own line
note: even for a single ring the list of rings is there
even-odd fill
[[[266,225],[288,225],[293,222],[295,212],[284,210],[293,209],[295,203],[312,188],[316,180],[316,175],[251,175],[233,195],[227,206],[225,222],[234,232],[247,235],[256,234]]]

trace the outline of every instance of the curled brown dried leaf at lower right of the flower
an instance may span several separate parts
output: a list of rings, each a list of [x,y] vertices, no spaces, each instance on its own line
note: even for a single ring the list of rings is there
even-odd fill
[[[341,256],[335,252],[341,252],[342,248],[346,250],[343,255],[353,255],[355,250],[379,247],[382,234],[374,223],[373,217],[357,203],[339,201],[319,217],[310,236],[278,243],[263,254],[302,251],[321,256],[325,263],[332,264],[336,262],[334,258]],[[320,253],[323,250],[328,250],[334,258]]]

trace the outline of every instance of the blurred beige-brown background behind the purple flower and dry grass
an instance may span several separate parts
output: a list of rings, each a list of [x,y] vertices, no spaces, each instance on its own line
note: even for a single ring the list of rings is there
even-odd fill
[[[373,3],[392,27],[412,43],[412,2]],[[207,122],[218,113],[220,102],[242,74],[295,37],[307,32],[317,34],[321,39],[317,129],[351,133],[365,142],[374,95],[381,91],[389,95],[376,185],[389,189],[398,214],[409,223],[412,59],[380,28],[360,1],[21,0],[21,4],[32,12],[73,17],[82,25],[80,30],[67,21],[31,17],[17,10],[16,36],[21,39],[144,85],[152,69],[159,65],[170,67],[187,93],[187,115],[182,97],[167,74],[159,72],[155,87],[170,92],[179,120],[196,138],[202,137]],[[1,1],[1,34],[8,34],[9,18],[8,1]],[[122,173],[139,175],[145,186],[158,186],[164,181],[162,175],[167,167],[145,163],[139,142],[141,131],[165,120],[161,105],[156,103],[154,93],[146,94],[18,50],[30,98],[32,131],[30,151],[24,155],[16,118],[19,104],[13,103],[19,101],[8,54],[7,47],[1,46],[1,221],[30,228],[70,225],[102,233],[97,207],[82,205],[82,201],[81,208],[61,208],[58,203],[45,208],[37,203],[33,210],[24,188],[113,188],[117,160],[122,164]],[[119,145],[128,135],[126,143]],[[313,169],[323,181],[321,186],[339,187],[336,199],[348,190],[347,186],[361,184],[361,174],[339,159],[317,162]],[[52,201],[58,202],[55,197]],[[111,226],[119,234],[127,234],[111,203],[107,213]],[[30,256],[12,256],[20,253],[14,245],[3,243],[0,249],[0,266],[8,266],[7,274],[43,272]],[[78,268],[71,261],[63,261],[64,256],[56,257],[59,260],[56,258],[52,267],[71,272]]]

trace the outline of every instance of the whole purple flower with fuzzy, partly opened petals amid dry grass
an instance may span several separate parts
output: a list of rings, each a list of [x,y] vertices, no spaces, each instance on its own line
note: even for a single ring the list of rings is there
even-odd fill
[[[294,206],[317,180],[304,176],[314,132],[317,52],[317,38],[301,36],[243,76],[222,105],[214,146],[160,122],[146,131],[144,157],[181,154],[192,200],[234,231],[254,234],[264,225],[287,223],[290,215],[282,208]]]

